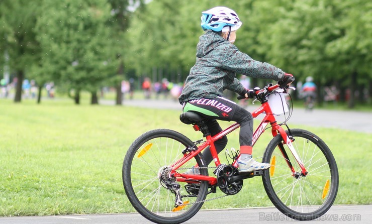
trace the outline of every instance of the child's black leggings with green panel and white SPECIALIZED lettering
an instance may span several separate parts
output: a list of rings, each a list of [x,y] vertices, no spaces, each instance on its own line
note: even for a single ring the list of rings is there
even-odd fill
[[[216,120],[234,121],[240,125],[239,144],[240,146],[252,146],[253,116],[252,114],[237,105],[235,102],[223,97],[212,99],[194,99],[183,105],[183,112],[196,111],[208,118],[206,125],[212,136],[222,131]],[[217,153],[220,153],[227,144],[227,137],[215,142]],[[207,164],[213,161],[209,148],[204,150],[203,157]]]

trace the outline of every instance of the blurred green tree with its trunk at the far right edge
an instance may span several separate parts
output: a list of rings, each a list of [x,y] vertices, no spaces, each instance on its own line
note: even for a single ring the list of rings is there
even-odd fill
[[[333,29],[337,36],[327,42],[325,53],[333,62],[329,69],[336,77],[347,80],[348,107],[353,108],[356,93],[364,100],[364,89],[372,91],[372,2],[331,2],[334,3]]]

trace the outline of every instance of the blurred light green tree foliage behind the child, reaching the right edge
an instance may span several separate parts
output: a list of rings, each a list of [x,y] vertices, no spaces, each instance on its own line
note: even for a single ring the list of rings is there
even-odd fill
[[[154,67],[180,68],[182,80],[195,61],[201,12],[215,6],[234,9],[243,25],[236,45],[253,59],[319,84],[350,86],[358,73],[360,88],[370,88],[372,6],[370,1],[152,1],[134,14],[129,33],[128,66],[138,74]]]

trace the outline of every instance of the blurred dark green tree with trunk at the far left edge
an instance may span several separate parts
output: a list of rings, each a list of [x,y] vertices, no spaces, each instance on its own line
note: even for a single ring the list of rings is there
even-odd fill
[[[21,102],[26,71],[39,58],[40,46],[34,30],[39,13],[39,6],[31,1],[0,1],[0,22],[3,26],[0,29],[0,48],[7,49],[9,67],[16,73],[15,102]],[[3,57],[4,51],[1,52]]]

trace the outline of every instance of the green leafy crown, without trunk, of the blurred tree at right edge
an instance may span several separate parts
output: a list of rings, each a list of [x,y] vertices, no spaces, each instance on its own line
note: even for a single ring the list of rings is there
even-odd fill
[[[367,0],[343,1],[337,4],[334,16],[337,36],[326,45],[336,73],[369,74],[372,62],[372,3]]]

